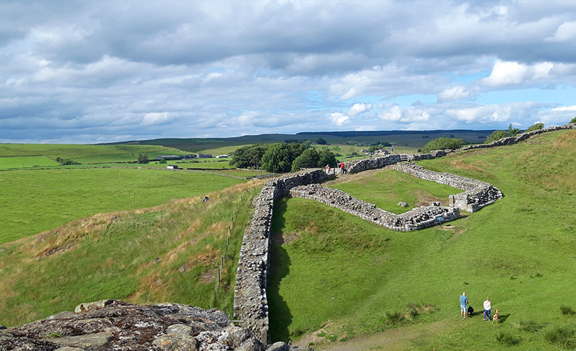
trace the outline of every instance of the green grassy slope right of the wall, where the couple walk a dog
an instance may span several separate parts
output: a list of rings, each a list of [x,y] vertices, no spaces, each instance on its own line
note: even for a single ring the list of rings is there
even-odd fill
[[[435,305],[438,312],[382,334],[393,335],[397,343],[375,338],[369,348],[504,349],[495,339],[504,332],[523,348],[557,350],[544,333],[558,326],[576,328],[576,317],[559,310],[561,305],[576,309],[570,293],[576,272],[575,147],[575,131],[565,131],[421,162],[485,180],[505,195],[442,228],[391,232],[313,201],[279,201],[274,232],[285,243],[273,246],[273,338],[297,338],[325,324],[334,340],[386,331],[394,327],[386,312],[419,303]],[[365,189],[368,197],[371,187]],[[462,321],[457,298],[463,290],[476,310],[490,296],[501,324],[483,324],[480,316]],[[543,329],[521,331],[518,325],[525,321]]]

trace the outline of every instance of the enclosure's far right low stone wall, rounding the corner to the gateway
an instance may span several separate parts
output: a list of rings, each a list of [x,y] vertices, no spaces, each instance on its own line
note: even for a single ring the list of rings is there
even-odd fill
[[[480,208],[494,204],[494,201],[504,197],[497,187],[481,180],[456,176],[451,173],[438,173],[407,162],[394,164],[389,167],[409,173],[417,178],[466,190],[459,194],[450,195],[450,206],[460,208],[462,211],[476,212]]]

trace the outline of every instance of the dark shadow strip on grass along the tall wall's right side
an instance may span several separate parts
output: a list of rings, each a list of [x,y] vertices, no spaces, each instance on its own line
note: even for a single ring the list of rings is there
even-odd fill
[[[270,273],[268,276],[268,318],[270,321],[270,340],[284,341],[288,343],[290,333],[288,326],[292,324],[292,313],[288,304],[280,295],[280,282],[290,272],[292,261],[286,249],[282,247],[284,238],[284,213],[286,212],[286,202],[280,199],[274,204],[273,229],[270,233]]]

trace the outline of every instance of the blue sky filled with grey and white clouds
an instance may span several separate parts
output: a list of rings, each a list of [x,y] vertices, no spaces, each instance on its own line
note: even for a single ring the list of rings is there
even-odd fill
[[[576,1],[0,2],[0,143],[575,116]]]

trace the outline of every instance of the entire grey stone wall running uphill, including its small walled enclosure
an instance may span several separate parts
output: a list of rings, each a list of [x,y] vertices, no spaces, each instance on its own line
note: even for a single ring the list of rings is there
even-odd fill
[[[574,128],[576,128],[576,124],[551,127],[522,133],[516,135],[516,137],[502,138],[488,144],[467,145],[460,150],[511,145],[526,140],[532,135]],[[459,209],[469,212],[478,211],[483,206],[492,204],[497,199],[502,198],[502,192],[496,187],[480,180],[455,176],[450,173],[428,171],[411,163],[399,164],[401,161],[418,161],[420,159],[443,157],[450,152],[452,150],[436,150],[429,154],[391,154],[384,157],[344,163],[348,173],[395,165],[393,166],[395,169],[410,173],[418,178],[465,190],[465,192],[460,194],[450,195],[450,207],[421,207],[402,215],[395,215],[394,213],[381,210],[373,204],[355,199],[340,190],[333,190],[314,184],[326,178],[335,177],[334,174],[327,175],[321,169],[301,171],[282,178],[268,180],[260,194],[252,201],[254,214],[249,229],[244,232],[242,248],[240,249],[240,260],[236,274],[234,314],[237,319],[242,320],[242,326],[251,331],[262,343],[270,342],[266,284],[268,284],[268,270],[270,267],[270,230],[275,199],[284,196],[313,199],[323,204],[340,208],[342,211],[352,213],[365,220],[389,227],[392,230],[418,230],[459,217]]]

